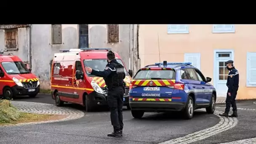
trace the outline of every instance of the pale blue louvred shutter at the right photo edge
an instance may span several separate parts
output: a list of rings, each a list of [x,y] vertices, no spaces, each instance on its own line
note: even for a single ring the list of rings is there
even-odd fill
[[[247,86],[256,87],[256,53],[247,53]]]

